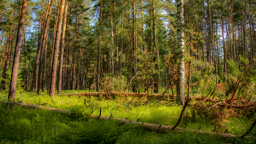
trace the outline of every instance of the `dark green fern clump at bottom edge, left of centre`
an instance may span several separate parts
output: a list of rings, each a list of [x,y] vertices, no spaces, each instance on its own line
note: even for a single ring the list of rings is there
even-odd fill
[[[116,143],[121,134],[132,128],[132,124],[118,126],[115,121],[89,119],[80,123],[67,124],[72,129],[61,132],[56,143]]]

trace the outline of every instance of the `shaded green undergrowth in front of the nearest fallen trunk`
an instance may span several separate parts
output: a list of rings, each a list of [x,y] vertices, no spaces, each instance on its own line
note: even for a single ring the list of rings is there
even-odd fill
[[[0,103],[0,129],[1,143],[254,143],[192,132],[159,134],[77,111],[68,115],[6,103]]]

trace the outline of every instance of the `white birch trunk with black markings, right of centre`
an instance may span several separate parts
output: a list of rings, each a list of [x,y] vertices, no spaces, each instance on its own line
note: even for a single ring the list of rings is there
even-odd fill
[[[185,104],[185,63],[184,63],[184,0],[177,1],[177,40],[178,40],[178,79],[176,85],[177,98],[179,105]]]

